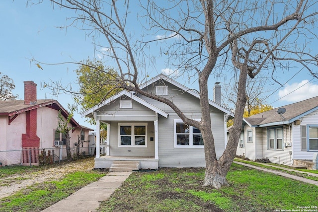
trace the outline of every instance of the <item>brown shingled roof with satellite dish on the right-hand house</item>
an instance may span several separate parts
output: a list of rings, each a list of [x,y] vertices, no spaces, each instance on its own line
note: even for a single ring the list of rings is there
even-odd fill
[[[284,114],[278,114],[279,108],[285,108]],[[318,96],[293,104],[285,105],[263,113],[245,118],[251,127],[267,127],[274,125],[290,124],[311,112],[318,110]]]

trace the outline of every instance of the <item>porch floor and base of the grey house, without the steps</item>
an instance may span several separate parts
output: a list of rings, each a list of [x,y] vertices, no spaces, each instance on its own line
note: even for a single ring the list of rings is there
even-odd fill
[[[132,157],[105,155],[94,158],[94,168],[110,168],[114,161],[136,161],[140,163],[140,169],[158,169],[159,159],[155,157]]]

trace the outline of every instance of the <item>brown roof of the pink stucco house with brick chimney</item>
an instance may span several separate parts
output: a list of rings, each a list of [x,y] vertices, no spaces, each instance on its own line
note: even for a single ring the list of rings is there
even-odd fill
[[[38,99],[34,104],[24,104],[24,100],[9,100],[0,101],[0,115],[6,115],[8,117],[17,116],[20,113],[34,110],[40,107],[49,107],[54,110],[61,110],[61,114],[67,118],[69,113],[62,107],[62,105],[53,99]],[[13,120],[13,119],[12,119]],[[70,123],[74,127],[80,127],[74,118],[71,119]]]

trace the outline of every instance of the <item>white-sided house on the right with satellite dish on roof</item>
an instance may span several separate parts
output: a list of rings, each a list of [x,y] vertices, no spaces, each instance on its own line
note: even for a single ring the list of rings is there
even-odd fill
[[[317,169],[318,96],[244,118],[237,155]],[[315,157],[315,159],[313,158]]]

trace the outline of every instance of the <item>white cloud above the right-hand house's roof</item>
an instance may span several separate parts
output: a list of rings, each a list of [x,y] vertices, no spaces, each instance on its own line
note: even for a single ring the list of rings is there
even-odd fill
[[[305,79],[299,83],[295,82],[291,85],[287,84],[278,91],[280,101],[299,102],[318,95],[318,84],[309,82]]]

